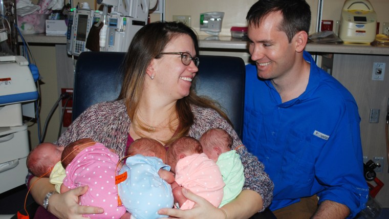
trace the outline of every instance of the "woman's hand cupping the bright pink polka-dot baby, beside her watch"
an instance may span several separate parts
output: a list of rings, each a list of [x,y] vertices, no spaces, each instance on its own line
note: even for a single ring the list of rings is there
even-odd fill
[[[85,218],[82,214],[101,214],[104,209],[78,204],[78,196],[85,194],[88,186],[71,189],[62,194],[53,194],[49,200],[49,212],[59,218]]]

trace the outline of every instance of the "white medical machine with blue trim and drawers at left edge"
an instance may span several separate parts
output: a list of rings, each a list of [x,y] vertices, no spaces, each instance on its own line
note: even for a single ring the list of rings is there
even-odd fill
[[[38,92],[23,56],[0,56],[0,193],[23,185],[29,154],[23,112],[34,111]]]

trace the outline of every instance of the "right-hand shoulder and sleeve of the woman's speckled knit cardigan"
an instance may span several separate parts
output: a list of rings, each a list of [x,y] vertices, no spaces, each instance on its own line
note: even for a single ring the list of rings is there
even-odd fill
[[[195,123],[191,126],[189,136],[200,139],[201,135],[210,128],[223,128],[233,138],[232,149],[240,155],[244,167],[245,184],[243,189],[256,191],[262,196],[263,210],[273,199],[274,184],[265,172],[264,165],[247,151],[241,139],[232,126],[213,109],[191,106],[195,115]]]

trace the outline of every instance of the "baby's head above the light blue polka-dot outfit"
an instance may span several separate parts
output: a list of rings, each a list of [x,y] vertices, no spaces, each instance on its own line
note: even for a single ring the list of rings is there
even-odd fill
[[[140,138],[135,140],[126,152],[126,155],[143,155],[148,157],[157,157],[166,162],[166,149],[157,140],[151,138]]]

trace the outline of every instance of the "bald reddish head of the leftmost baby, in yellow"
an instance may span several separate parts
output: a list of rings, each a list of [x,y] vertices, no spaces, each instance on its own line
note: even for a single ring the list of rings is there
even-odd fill
[[[61,160],[63,146],[41,143],[27,156],[27,168],[36,177],[50,177],[51,169]]]

